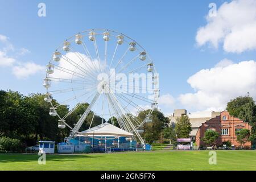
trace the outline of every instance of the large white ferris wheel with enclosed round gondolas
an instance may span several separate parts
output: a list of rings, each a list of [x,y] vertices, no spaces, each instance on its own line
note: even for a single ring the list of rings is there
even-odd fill
[[[66,39],[47,64],[44,101],[51,104],[49,115],[58,117],[58,127],[71,129],[67,142],[79,134],[79,129],[91,112],[114,125],[115,117],[121,129],[133,133],[141,142],[144,123],[151,122],[157,109],[159,76],[146,50],[135,40],[112,30],[92,29]],[[53,98],[59,101],[53,102]],[[65,119],[84,107],[84,114],[74,127]],[[69,105],[67,114],[58,112]],[[143,121],[137,118],[143,113]]]

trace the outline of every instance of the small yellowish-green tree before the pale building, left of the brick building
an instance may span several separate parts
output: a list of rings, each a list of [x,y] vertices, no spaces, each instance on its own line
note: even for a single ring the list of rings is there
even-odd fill
[[[176,119],[175,132],[177,138],[189,138],[191,131],[192,126],[187,115],[182,115]]]

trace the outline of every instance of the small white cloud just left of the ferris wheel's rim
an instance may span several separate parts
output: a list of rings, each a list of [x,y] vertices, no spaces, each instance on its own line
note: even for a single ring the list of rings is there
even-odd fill
[[[31,75],[35,75],[38,72],[45,71],[45,67],[35,63],[24,63],[13,67],[13,74],[17,78],[27,78]]]

